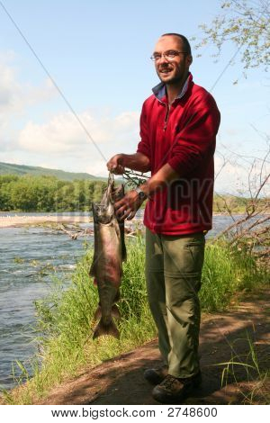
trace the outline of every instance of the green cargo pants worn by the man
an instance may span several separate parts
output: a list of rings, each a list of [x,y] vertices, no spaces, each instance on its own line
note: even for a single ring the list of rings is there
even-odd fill
[[[198,347],[205,239],[203,233],[167,236],[146,229],[148,302],[168,374],[190,377],[200,370]]]

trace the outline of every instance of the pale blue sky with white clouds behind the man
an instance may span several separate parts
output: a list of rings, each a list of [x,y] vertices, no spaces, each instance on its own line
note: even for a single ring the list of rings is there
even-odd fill
[[[0,161],[107,175],[112,155],[136,151],[141,106],[158,83],[149,59],[158,37],[201,40],[220,3],[1,0]],[[200,58],[193,50],[194,82],[211,90],[236,49],[224,46],[218,62],[211,46]],[[252,157],[259,172],[266,154],[269,80],[263,69],[245,78],[237,57],[211,94],[221,113],[215,188],[244,193]]]

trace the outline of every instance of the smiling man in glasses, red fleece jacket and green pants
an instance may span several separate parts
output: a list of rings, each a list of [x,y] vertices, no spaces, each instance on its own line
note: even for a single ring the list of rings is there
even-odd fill
[[[152,59],[161,82],[143,104],[137,152],[117,154],[107,166],[116,174],[125,167],[151,171],[148,182],[127,193],[115,209],[122,219],[132,219],[148,198],[148,301],[164,365],[144,376],[156,385],[155,400],[177,403],[201,383],[198,292],[204,234],[211,229],[220,112],[211,94],[193,83],[191,48],[183,35],[162,35]]]

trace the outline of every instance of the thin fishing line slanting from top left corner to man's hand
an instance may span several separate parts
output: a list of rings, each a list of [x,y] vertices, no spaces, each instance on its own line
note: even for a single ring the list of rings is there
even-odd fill
[[[27,38],[24,36],[23,31],[21,31],[21,29],[19,28],[19,26],[17,25],[17,23],[15,23],[13,17],[11,16],[11,14],[8,13],[8,11],[6,10],[6,8],[4,7],[4,4],[0,1],[0,4],[4,10],[4,13],[7,14],[7,16],[9,17],[9,19],[11,20],[11,22],[14,24],[14,27],[16,28],[16,30],[20,33],[21,37],[23,38],[23,40],[25,41],[25,43],[27,44],[27,46],[29,47],[29,49],[31,49],[32,54],[34,55],[34,57],[38,60],[38,62],[40,63],[40,67],[42,67],[42,69],[44,70],[44,72],[49,76],[50,81],[52,82],[52,84],[54,85],[54,87],[57,89],[58,94],[60,94],[60,96],[62,97],[62,99],[64,100],[64,102],[67,104],[67,107],[69,108],[69,110],[73,113],[73,115],[76,118],[76,121],[78,121],[79,125],[81,126],[81,128],[85,131],[85,134],[87,135],[87,137],[92,141],[94,147],[96,148],[96,150],[99,152],[99,154],[103,157],[103,159],[105,160],[105,162],[107,162],[106,157],[103,155],[102,150],[98,147],[98,145],[96,144],[96,142],[94,141],[92,135],[90,134],[89,130],[87,130],[87,128],[85,127],[85,124],[83,123],[83,121],[81,121],[81,119],[78,117],[78,115],[76,114],[74,108],[72,107],[72,105],[68,102],[67,97],[63,94],[63,92],[61,91],[61,89],[59,88],[59,86],[57,85],[57,83],[55,82],[54,78],[49,74],[49,70],[43,65],[42,61],[40,60],[39,56],[37,55],[37,53],[35,52],[35,50],[32,48],[30,42],[27,40]]]

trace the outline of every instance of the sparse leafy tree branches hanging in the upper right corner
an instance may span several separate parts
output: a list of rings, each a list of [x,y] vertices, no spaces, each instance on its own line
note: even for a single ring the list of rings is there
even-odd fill
[[[270,59],[270,2],[268,0],[231,0],[220,4],[221,13],[210,25],[202,24],[202,40],[199,49],[213,43],[220,56],[222,46],[231,41],[240,55],[244,73],[252,67],[267,70]]]

